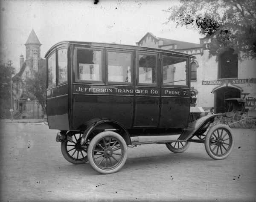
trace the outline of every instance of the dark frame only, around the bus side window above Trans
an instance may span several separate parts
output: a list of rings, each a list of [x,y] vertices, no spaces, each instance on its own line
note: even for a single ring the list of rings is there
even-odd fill
[[[108,52],[130,53],[131,54],[131,82],[108,81]],[[134,51],[127,49],[106,49],[106,84],[133,85],[134,84]]]

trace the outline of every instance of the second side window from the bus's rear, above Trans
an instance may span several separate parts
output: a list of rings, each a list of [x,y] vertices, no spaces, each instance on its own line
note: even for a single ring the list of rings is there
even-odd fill
[[[108,52],[108,81],[131,83],[131,53]]]

